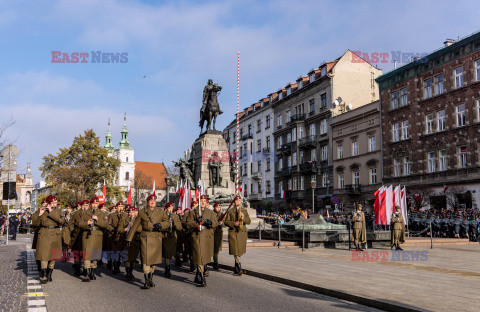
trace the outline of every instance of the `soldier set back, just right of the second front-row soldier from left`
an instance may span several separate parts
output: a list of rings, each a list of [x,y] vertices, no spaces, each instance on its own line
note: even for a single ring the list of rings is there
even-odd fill
[[[123,208],[123,203],[119,202],[116,211],[108,215],[108,223],[113,227],[112,235],[109,236],[111,247],[109,259],[113,261],[113,274],[120,273],[120,252],[125,249],[125,228],[128,223],[128,215]]]

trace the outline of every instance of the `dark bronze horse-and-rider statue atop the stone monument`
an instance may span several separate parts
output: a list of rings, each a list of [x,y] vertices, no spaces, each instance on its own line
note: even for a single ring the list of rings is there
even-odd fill
[[[220,105],[218,104],[218,93],[222,90],[222,87],[218,84],[214,84],[212,79],[208,79],[207,85],[203,89],[203,105],[200,109],[200,135],[202,135],[203,124],[206,121],[207,125],[205,127],[205,132],[210,130],[210,127],[213,122],[213,130],[215,130],[215,121],[217,116],[223,112],[220,110]]]

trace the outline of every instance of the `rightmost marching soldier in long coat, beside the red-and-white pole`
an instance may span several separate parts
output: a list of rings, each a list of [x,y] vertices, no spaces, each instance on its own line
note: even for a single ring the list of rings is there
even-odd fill
[[[227,212],[225,225],[228,226],[228,251],[235,259],[234,273],[242,275],[243,269],[240,257],[247,252],[247,228],[251,223],[247,209],[242,207],[242,197],[236,195],[235,206]]]

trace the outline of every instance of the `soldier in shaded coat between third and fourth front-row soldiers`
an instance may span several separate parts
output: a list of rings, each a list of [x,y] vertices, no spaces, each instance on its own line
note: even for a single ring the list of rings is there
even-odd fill
[[[177,253],[177,232],[182,230],[182,222],[177,214],[173,213],[173,203],[168,202],[165,205],[165,212],[168,216],[169,227],[163,235],[162,247],[163,258],[165,259],[165,273],[167,278],[172,277],[170,263]]]

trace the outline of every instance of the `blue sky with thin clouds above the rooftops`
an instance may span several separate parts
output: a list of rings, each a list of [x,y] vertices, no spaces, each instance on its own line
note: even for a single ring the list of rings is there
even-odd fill
[[[0,1],[2,139],[20,149],[18,172],[94,129],[102,144],[111,120],[118,147],[123,116],[135,160],[167,165],[198,137],[202,92],[223,90],[223,130],[236,112],[347,49],[384,73],[396,54],[426,54],[447,38],[480,30],[477,1]],[[54,63],[52,51],[88,53],[87,63]],[[127,53],[92,63],[92,51]],[[96,52],[98,53],[98,52]],[[398,57],[397,57],[398,58]],[[398,60],[398,65],[404,65]]]

